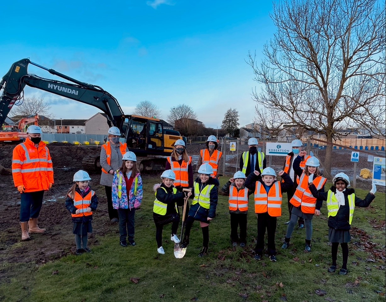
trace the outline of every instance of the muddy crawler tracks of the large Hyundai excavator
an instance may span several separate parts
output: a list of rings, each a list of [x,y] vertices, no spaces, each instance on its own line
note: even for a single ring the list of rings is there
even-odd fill
[[[164,156],[143,156],[137,157],[137,168],[141,173],[150,171],[164,171],[166,157]],[[100,156],[85,156],[82,160],[83,170],[88,172],[99,173],[102,171],[100,165]]]

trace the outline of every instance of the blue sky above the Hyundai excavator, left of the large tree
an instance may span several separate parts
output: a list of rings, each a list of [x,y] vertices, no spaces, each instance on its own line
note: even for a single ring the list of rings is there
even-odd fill
[[[240,126],[254,118],[248,51],[262,57],[275,28],[271,2],[246,1],[7,1],[2,3],[0,77],[30,58],[77,80],[98,85],[125,114],[137,103],[156,103],[161,118],[186,103],[207,127],[220,128],[237,108]],[[35,66],[29,73],[55,78]],[[92,106],[33,88],[56,118],[88,119]]]

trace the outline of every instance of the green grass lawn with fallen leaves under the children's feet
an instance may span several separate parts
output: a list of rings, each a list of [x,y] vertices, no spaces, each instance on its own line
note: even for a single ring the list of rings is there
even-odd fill
[[[34,264],[3,264],[18,273],[0,285],[2,301],[385,301],[385,194],[367,209],[356,208],[349,243],[347,276],[338,275],[331,265],[328,245],[327,208],[313,219],[312,252],[305,253],[305,229],[295,229],[291,246],[281,250],[288,221],[287,197],[283,216],[278,218],[276,248],[278,261],[253,259],[257,234],[256,215],[250,197],[248,243],[245,249],[230,244],[228,199],[219,196],[217,216],[210,224],[209,255],[197,255],[202,248],[199,223],[191,231],[183,259],[174,258],[171,225],[164,227],[165,255],[157,254],[152,219],[154,194],[151,187],[159,178],[145,176],[142,209],[136,212],[136,246],[119,245],[118,226],[98,237],[92,253],[66,256],[36,267]],[[221,185],[226,182],[222,178]],[[329,188],[330,185],[326,185]],[[364,198],[367,192],[356,190]],[[69,222],[71,223],[71,222]],[[373,227],[374,226],[374,227]],[[0,270],[1,271],[1,270]],[[317,294],[317,292],[319,294]]]

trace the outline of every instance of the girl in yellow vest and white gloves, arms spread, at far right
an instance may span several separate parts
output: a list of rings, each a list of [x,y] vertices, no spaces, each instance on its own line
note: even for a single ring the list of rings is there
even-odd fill
[[[328,241],[332,243],[331,256],[332,265],[328,269],[330,273],[335,273],[337,269],[338,246],[342,247],[343,263],[339,275],[347,275],[347,260],[349,258],[348,243],[351,240],[350,228],[355,207],[366,208],[375,199],[377,188],[372,184],[370,193],[365,199],[360,199],[355,195],[355,191],[350,187],[350,179],[345,173],[338,173],[334,176],[334,185],[325,192],[318,192],[313,183],[310,183],[310,191],[315,198],[327,200],[328,210]]]

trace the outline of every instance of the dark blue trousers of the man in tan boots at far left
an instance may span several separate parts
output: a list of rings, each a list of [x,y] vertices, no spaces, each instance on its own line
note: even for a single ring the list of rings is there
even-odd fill
[[[21,194],[20,221],[29,221],[37,218],[42,208],[44,191],[28,192]]]

